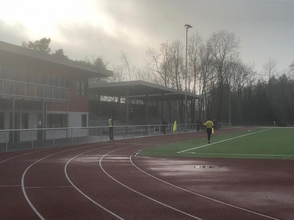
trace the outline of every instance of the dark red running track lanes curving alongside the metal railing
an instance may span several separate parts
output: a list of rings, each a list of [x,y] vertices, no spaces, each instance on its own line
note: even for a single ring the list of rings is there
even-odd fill
[[[178,139],[205,135],[185,133]],[[214,198],[217,192],[206,197],[185,188],[177,173],[162,176],[146,157],[132,156],[173,139],[154,136],[0,154],[0,219],[280,219],[278,212],[258,205]]]

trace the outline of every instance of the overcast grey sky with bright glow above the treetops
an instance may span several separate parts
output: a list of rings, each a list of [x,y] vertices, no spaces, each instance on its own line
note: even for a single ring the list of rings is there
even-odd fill
[[[5,0],[0,5],[0,41],[51,38],[70,59],[103,55],[120,63],[123,50],[131,65],[145,64],[148,47],[181,40],[193,26],[205,40],[227,29],[240,38],[240,56],[256,69],[270,58],[278,69],[294,61],[294,1],[196,0]]]

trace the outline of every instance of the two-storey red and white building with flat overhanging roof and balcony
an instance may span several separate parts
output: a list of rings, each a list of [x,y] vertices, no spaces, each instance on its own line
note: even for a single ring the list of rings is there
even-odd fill
[[[109,70],[0,41],[0,130],[87,127],[88,79],[112,75]],[[31,140],[27,131],[3,135],[0,132],[1,142]],[[38,130],[32,135],[44,141],[53,134]]]

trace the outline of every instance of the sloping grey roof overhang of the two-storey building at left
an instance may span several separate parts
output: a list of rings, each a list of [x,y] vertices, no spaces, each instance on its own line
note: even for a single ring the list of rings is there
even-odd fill
[[[43,66],[61,67],[62,69],[87,74],[88,78],[109,77],[113,76],[113,72],[96,66],[86,66],[77,61],[63,59],[42,51],[27,49],[22,46],[8,44],[0,41],[0,57],[10,59],[21,58],[26,62],[34,62]]]

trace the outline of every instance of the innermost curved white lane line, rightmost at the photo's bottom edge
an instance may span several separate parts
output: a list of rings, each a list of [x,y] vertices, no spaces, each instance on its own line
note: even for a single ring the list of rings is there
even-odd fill
[[[169,182],[167,182],[167,181],[164,181],[164,180],[162,180],[162,179],[160,179],[160,178],[158,178],[158,177],[156,177],[156,176],[152,176],[151,174],[149,174],[149,173],[147,173],[146,171],[142,170],[141,168],[139,168],[137,165],[135,165],[135,164],[133,163],[133,161],[132,161],[132,156],[133,156],[133,155],[134,155],[134,154],[130,155],[129,158],[130,158],[130,162],[132,163],[132,165],[133,165],[134,167],[136,167],[138,170],[140,170],[140,171],[143,172],[144,174],[147,174],[148,176],[151,176],[151,177],[153,177],[153,178],[155,178],[155,179],[157,179],[157,180],[159,180],[159,181],[161,181],[161,182],[164,182],[164,183],[166,183],[166,184],[168,184],[168,185],[170,185],[170,186],[173,186],[173,187],[178,188],[178,189],[180,189],[180,190],[186,191],[186,192],[188,192],[188,193],[195,194],[195,195],[197,195],[197,196],[199,196],[199,197],[202,197],[202,198],[207,198],[207,199],[209,199],[209,200],[212,200],[212,201],[215,201],[215,202],[219,202],[219,203],[221,203],[221,204],[228,205],[228,206],[231,206],[231,207],[234,207],[234,208],[237,208],[237,209],[243,210],[243,211],[247,211],[247,212],[250,212],[250,213],[253,213],[253,214],[259,215],[259,216],[263,216],[263,217],[269,218],[269,219],[279,220],[279,219],[275,219],[275,218],[273,218],[273,217],[270,217],[270,216],[267,216],[267,215],[264,215],[264,214],[261,214],[261,213],[258,213],[258,212],[250,211],[250,210],[248,210],[248,209],[241,208],[241,207],[236,206],[236,205],[232,205],[232,204],[229,204],[229,203],[226,203],[226,202],[222,202],[222,201],[217,200],[217,199],[214,199],[214,198],[210,198],[210,197],[207,197],[207,196],[204,196],[204,195],[198,194],[198,193],[193,192],[193,191],[191,191],[191,190],[187,190],[187,189],[184,189],[184,188],[182,188],[182,187],[179,187],[179,186],[173,185],[172,183],[169,183]]]

